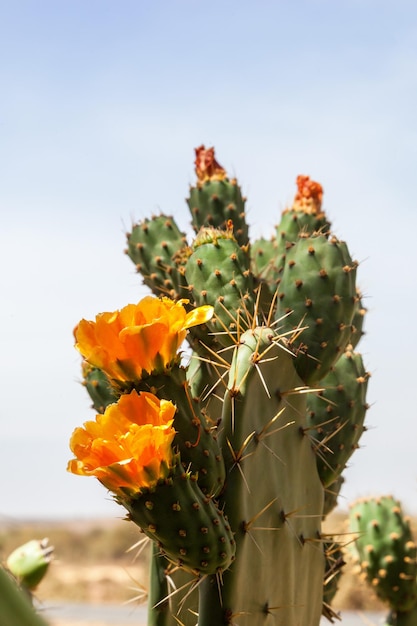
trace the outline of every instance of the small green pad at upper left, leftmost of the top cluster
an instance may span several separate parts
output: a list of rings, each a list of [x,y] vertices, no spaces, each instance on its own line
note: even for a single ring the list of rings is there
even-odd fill
[[[136,224],[127,234],[127,243],[126,254],[155,295],[173,299],[186,296],[185,290],[177,292],[181,276],[172,276],[178,273],[173,257],[186,244],[184,233],[172,217],[158,215]]]

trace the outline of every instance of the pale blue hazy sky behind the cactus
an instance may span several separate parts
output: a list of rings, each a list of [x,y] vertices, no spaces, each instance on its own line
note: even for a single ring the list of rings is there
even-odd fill
[[[121,515],[68,475],[93,416],[72,329],[146,290],[132,221],[188,229],[194,147],[214,145],[269,236],[298,174],[361,262],[369,431],[341,504],[417,513],[417,5],[396,0],[0,2],[0,516]]]

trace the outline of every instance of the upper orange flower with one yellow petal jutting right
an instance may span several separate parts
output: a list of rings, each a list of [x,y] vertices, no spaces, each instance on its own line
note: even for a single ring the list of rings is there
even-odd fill
[[[100,313],[94,322],[81,320],[74,330],[76,348],[95,367],[118,381],[140,380],[143,373],[161,373],[179,357],[187,329],[207,322],[213,307],[189,313],[187,300],[146,296],[114,313]]]

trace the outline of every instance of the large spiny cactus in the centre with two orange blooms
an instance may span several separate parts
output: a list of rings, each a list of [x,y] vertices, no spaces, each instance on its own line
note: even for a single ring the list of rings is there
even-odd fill
[[[212,148],[197,148],[196,174],[193,241],[163,214],[127,235],[154,296],[75,329],[98,414],[75,429],[68,469],[151,540],[150,626],[317,626],[341,564],[321,522],[367,407],[346,352],[363,333],[357,263],[309,177],[251,242]]]

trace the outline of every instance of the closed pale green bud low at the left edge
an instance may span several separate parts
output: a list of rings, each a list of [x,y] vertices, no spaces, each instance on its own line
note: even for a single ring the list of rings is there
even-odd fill
[[[6,561],[10,572],[26,589],[38,586],[45,576],[53,558],[53,546],[49,539],[32,539],[13,550]]]

